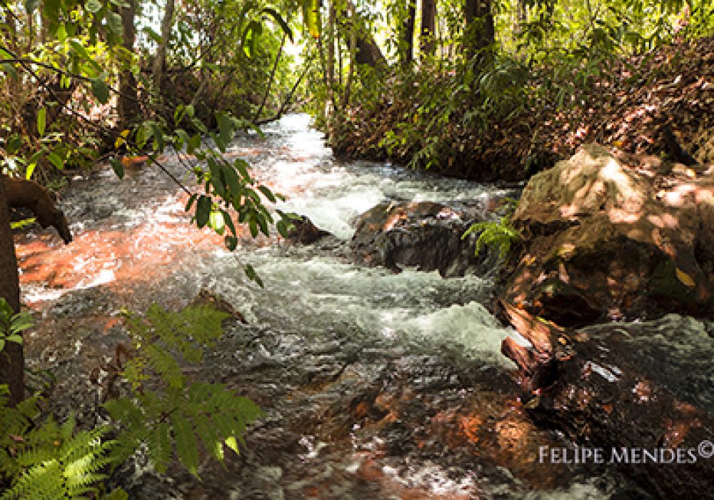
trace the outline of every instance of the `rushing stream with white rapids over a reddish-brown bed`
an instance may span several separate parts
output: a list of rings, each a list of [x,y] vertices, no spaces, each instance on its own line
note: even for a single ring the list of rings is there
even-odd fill
[[[341,250],[356,217],[380,201],[461,202],[486,211],[489,199],[510,191],[336,161],[308,125],[306,115],[286,116],[266,126],[265,139],[243,136],[227,154],[251,162],[258,179],[286,196],[277,208],[308,216],[335,238],[301,246],[248,236],[229,253],[218,236],[188,224],[186,197],[148,166],[127,171],[123,181],[103,169],[71,182],[61,202],[75,236],[69,246],[49,231],[18,237],[23,301],[37,322],[26,338],[36,372],[30,381],[39,384],[42,371],[51,371],[56,413],[95,418],[101,389],[89,374],[126,339],[121,308],[180,308],[208,291],[247,323],[228,324],[196,376],[228,384],[266,417],[225,467],[206,459],[201,481],[175,464],[154,474],[137,454],[114,478],[131,498],[615,494],[622,486],[606,466],[539,463],[539,446],[566,444],[523,411],[513,364],[499,351],[514,332],[486,308],[493,272],[393,274],[353,264]],[[171,154],[166,164],[185,173]],[[243,274],[247,263],[264,289]]]

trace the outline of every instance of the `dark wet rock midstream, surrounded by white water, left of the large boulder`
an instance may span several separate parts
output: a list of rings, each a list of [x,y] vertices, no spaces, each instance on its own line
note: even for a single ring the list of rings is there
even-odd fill
[[[441,276],[463,276],[467,269],[494,260],[486,251],[474,255],[473,238],[461,239],[477,220],[474,209],[384,201],[360,216],[350,247],[362,264],[396,272],[400,265],[417,266],[419,271],[438,270]]]

